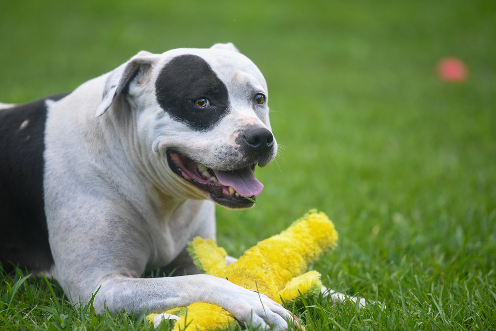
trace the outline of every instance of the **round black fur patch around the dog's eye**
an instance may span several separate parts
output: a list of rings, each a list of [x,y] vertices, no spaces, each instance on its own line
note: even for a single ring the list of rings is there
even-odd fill
[[[165,65],[155,82],[155,91],[160,107],[195,131],[212,129],[228,112],[226,85],[196,55],[181,55]],[[195,106],[198,99],[207,99],[210,105]]]

